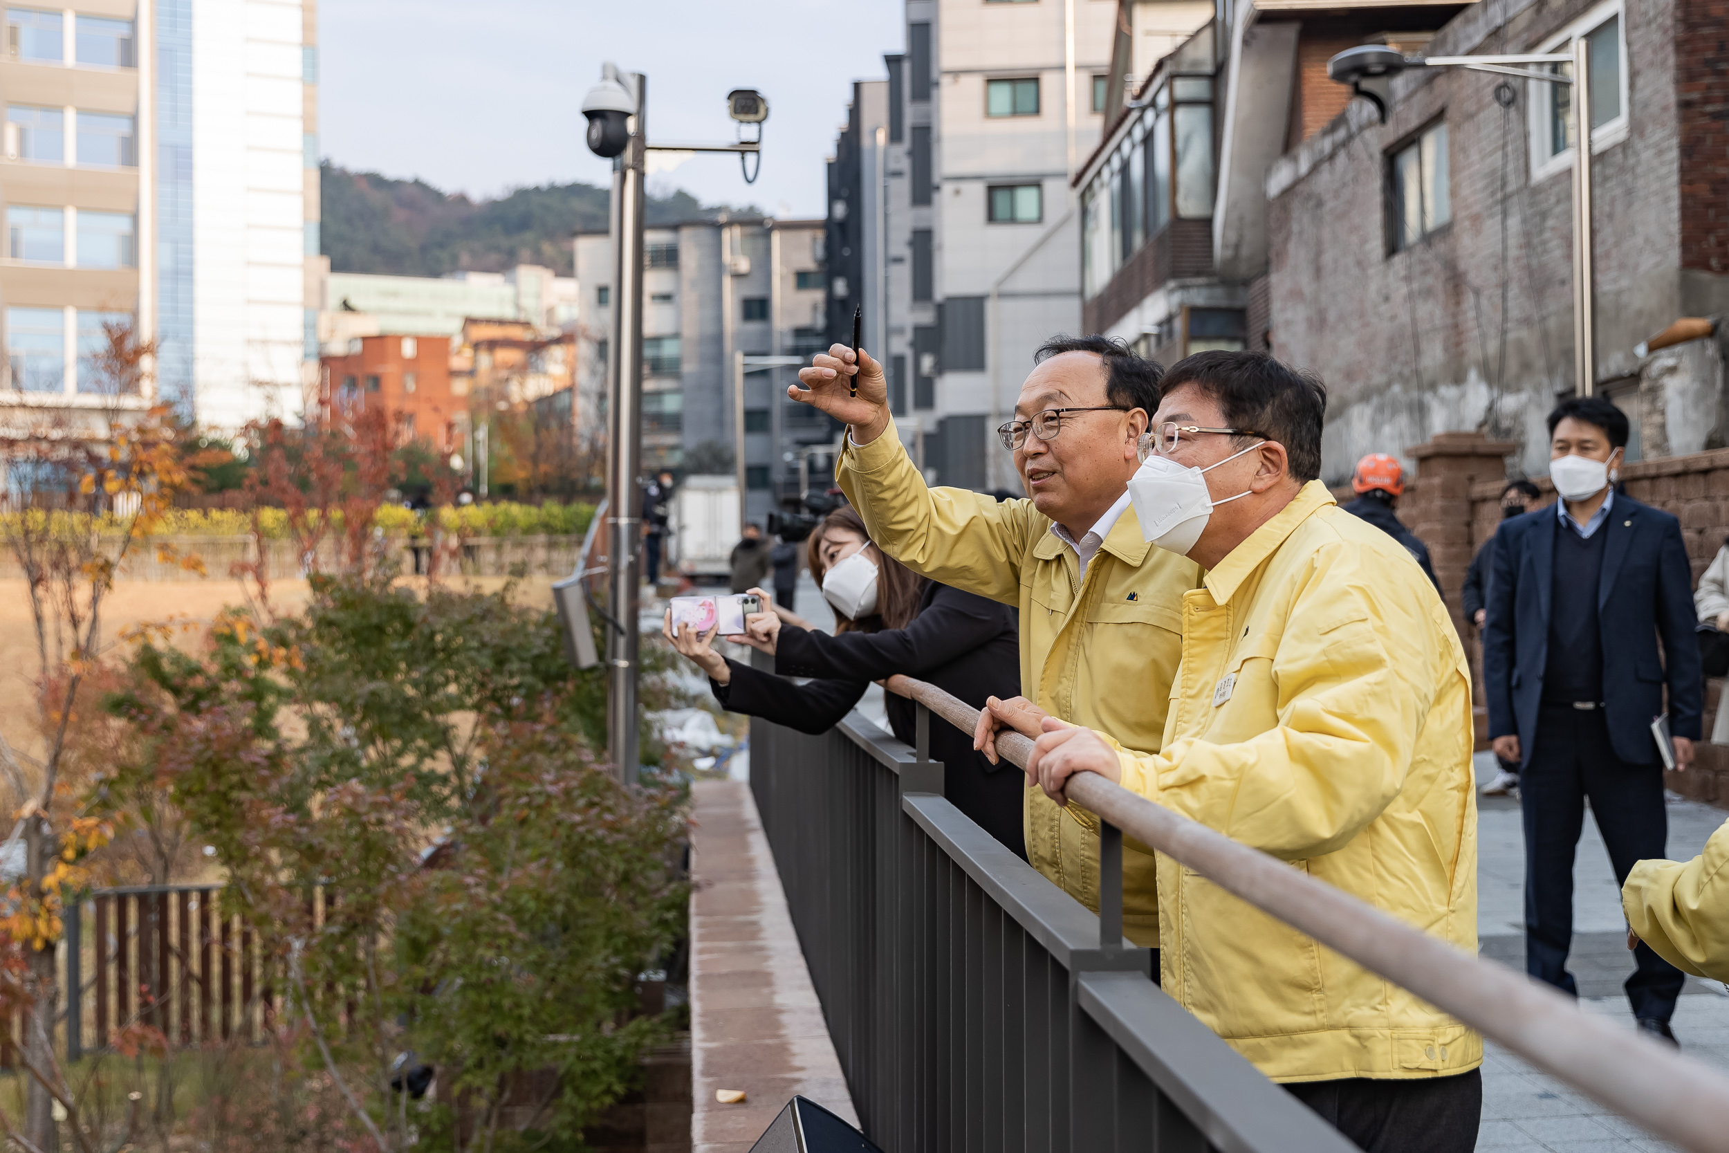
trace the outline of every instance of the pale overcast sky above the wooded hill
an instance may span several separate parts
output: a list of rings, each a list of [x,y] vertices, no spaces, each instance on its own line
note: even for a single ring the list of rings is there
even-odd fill
[[[605,185],[583,143],[602,61],[648,76],[648,138],[731,142],[724,97],[769,100],[762,175],[697,156],[650,176],[704,202],[821,216],[854,80],[901,52],[901,0],[332,0],[318,5],[325,159],[450,192]]]

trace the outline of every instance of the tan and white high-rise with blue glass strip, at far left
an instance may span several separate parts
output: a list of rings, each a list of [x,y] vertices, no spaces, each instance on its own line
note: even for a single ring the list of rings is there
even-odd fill
[[[147,403],[93,379],[104,323],[156,342],[150,387],[202,425],[299,415],[316,363],[315,16],[313,0],[5,10],[9,420],[97,427]]]

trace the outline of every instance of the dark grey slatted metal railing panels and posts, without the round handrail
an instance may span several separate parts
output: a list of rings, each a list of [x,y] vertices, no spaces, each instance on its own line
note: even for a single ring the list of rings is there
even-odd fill
[[[942,799],[928,723],[916,750],[856,712],[821,736],[750,723],[750,787],[864,1132],[892,1153],[1352,1150],[1152,980],[1122,937],[1120,835],[1101,920]]]

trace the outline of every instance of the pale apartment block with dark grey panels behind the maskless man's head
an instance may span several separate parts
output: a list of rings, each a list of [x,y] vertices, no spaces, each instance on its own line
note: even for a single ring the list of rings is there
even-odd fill
[[[832,278],[830,337],[851,332],[839,289],[885,287],[897,424],[937,481],[1017,484],[991,429],[1039,342],[1081,328],[1072,176],[1120,107],[1120,78],[1210,14],[1205,0],[908,0],[885,99],[856,88],[830,171],[830,251],[856,237],[864,266]]]

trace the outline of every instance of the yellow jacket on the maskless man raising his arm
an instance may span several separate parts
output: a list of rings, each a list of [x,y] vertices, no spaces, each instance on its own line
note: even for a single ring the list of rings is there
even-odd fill
[[[1141,539],[1124,512],[1079,579],[1074,550],[1030,500],[930,489],[894,427],[847,441],[835,475],[871,539],[913,572],[1020,608],[1020,691],[1046,712],[1157,750],[1181,653],[1183,595],[1200,567]],[[1013,766],[1005,771],[1015,773]],[[1027,857],[1098,911],[1098,818],[1027,790]],[[1124,933],[1158,944],[1152,852],[1124,838]]]

